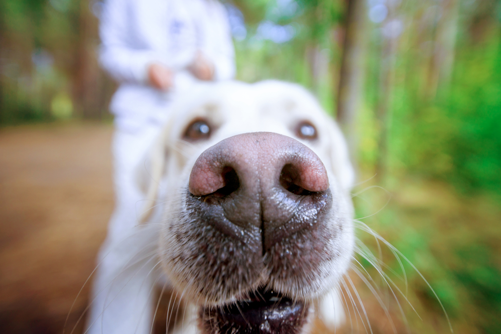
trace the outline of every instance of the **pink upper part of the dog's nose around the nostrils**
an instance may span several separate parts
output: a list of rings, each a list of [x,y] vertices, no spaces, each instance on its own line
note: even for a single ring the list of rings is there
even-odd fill
[[[324,164],[312,150],[270,132],[233,136],[208,148],[191,170],[189,191],[195,196],[228,195],[237,190],[228,173],[236,173],[240,186],[258,193],[280,185],[294,193],[329,188]]]

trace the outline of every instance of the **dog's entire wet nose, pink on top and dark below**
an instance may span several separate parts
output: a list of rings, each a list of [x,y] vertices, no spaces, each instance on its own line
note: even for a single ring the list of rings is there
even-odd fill
[[[328,189],[325,166],[310,148],[267,132],[233,136],[208,148],[189,178],[190,193],[203,199],[206,210],[224,216],[210,218],[211,224],[230,234],[228,222],[258,227],[264,250],[313,226],[331,205]]]

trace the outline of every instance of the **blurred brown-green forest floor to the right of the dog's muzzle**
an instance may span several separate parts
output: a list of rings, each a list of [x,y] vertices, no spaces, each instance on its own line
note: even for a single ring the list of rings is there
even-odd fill
[[[498,201],[485,196],[459,196],[446,183],[422,178],[407,176],[400,181],[391,198],[381,188],[365,183],[357,187],[361,194],[354,200],[356,216],[367,217],[362,221],[402,254],[399,257],[408,281],[408,302],[392,287],[410,328],[421,328],[415,332],[423,333],[448,332],[440,300],[455,332],[496,332],[501,325]],[[397,257],[382,242],[378,247],[372,235],[361,230],[358,235],[375,255],[381,249],[378,257],[385,264],[388,281],[391,279],[402,292],[406,291],[404,271]],[[439,299],[404,256],[422,273]],[[361,263],[377,281],[379,272],[368,261]],[[384,287],[386,282],[380,285]],[[395,303],[391,294],[389,298],[390,305]],[[413,315],[409,303],[422,320]],[[399,316],[398,311],[395,313],[392,317]]]

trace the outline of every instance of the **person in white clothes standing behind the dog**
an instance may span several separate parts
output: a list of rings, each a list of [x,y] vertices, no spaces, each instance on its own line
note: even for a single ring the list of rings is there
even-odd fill
[[[130,263],[120,255],[124,247],[134,247],[128,237],[135,233],[145,197],[135,169],[169,117],[176,94],[196,80],[234,76],[234,49],[225,9],[216,0],[107,0],[100,19],[100,62],[119,82],[110,103],[115,210],[98,255],[87,332],[149,332],[149,294],[138,292],[144,297],[130,301],[118,293],[138,286],[134,276],[121,273]],[[138,308],[145,314],[135,324],[132,314]]]

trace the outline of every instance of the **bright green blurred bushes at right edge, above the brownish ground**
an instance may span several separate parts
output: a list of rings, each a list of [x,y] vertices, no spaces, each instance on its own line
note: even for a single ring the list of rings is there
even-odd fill
[[[461,43],[452,82],[435,100],[423,101],[413,83],[395,88],[390,164],[452,182],[461,191],[500,192],[499,35],[476,47]]]

